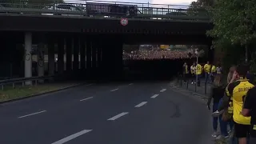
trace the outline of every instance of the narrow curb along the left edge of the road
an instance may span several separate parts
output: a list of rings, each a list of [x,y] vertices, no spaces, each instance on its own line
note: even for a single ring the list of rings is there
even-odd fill
[[[33,95],[22,97],[22,98],[14,98],[14,99],[10,99],[10,100],[7,100],[7,101],[0,102],[0,105],[6,104],[6,103],[9,103],[9,102],[20,101],[20,100],[23,100],[23,99],[34,98],[34,97],[42,96],[44,94],[51,94],[51,93],[55,93],[55,92],[58,92],[58,91],[67,90],[67,89],[70,89],[70,88],[73,88],[73,87],[76,87],[76,86],[83,86],[83,85],[86,85],[86,84],[89,84],[89,83],[79,83],[79,84],[75,84],[75,85],[72,85],[72,86],[65,86],[65,87],[62,87],[62,88],[57,89],[57,90],[46,91],[46,92],[40,93],[40,94],[33,94]]]

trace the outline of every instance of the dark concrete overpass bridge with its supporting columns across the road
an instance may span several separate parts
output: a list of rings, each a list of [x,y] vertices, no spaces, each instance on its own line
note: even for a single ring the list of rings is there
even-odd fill
[[[211,43],[206,30],[213,25],[206,11],[190,10],[188,6],[94,1],[50,5],[2,1],[0,5],[3,47],[24,47],[26,77],[32,75],[32,44],[38,45],[38,54],[48,54],[49,74],[54,74],[57,52],[59,74],[64,70],[102,69],[115,75],[122,71],[124,43]],[[38,74],[43,75],[38,67]]]

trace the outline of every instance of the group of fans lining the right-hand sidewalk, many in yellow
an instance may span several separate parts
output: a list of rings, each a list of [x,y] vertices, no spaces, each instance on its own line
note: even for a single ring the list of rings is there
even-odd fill
[[[188,74],[196,76],[199,82],[202,75],[205,75],[206,82],[213,82],[207,102],[208,109],[212,109],[213,112],[212,137],[224,140],[230,138],[230,144],[255,144],[256,96],[254,92],[256,87],[254,74],[250,74],[249,66],[232,66],[227,78],[224,78],[222,68],[210,62],[204,66],[194,63],[190,66],[190,70],[184,63],[185,82],[188,80],[186,77]],[[209,78],[213,81],[209,81]],[[200,86],[200,83],[197,84]],[[212,99],[213,106],[211,106]],[[218,125],[220,133],[218,133]]]

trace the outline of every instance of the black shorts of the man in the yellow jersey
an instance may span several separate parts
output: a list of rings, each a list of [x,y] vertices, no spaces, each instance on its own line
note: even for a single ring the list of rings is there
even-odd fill
[[[246,138],[250,132],[250,125],[242,125],[234,122],[234,137]]]

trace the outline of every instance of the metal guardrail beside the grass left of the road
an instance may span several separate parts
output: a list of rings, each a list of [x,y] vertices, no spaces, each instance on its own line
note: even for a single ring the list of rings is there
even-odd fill
[[[51,78],[54,78],[54,75],[42,76],[42,77],[30,77],[30,78],[11,78],[6,80],[1,80],[0,85],[2,86],[2,90],[3,90],[5,85],[12,84],[13,88],[15,88],[16,83],[22,83],[22,86],[25,86],[25,82],[33,83],[33,81],[35,85],[38,85],[38,80],[46,80]]]

